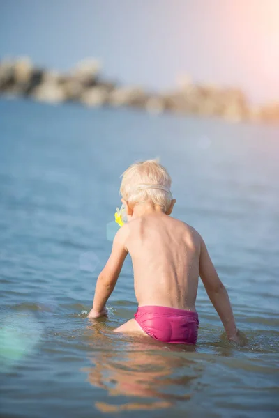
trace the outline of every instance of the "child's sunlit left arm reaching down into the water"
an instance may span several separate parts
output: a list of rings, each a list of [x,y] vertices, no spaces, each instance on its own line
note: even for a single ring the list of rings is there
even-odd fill
[[[123,262],[128,254],[125,247],[126,233],[125,226],[122,226],[114,237],[112,253],[96,283],[93,308],[89,312],[88,318],[99,318],[106,314],[105,304],[114,290]]]

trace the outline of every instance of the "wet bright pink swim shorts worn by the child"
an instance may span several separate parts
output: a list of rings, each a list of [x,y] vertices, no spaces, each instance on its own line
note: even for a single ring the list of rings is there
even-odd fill
[[[158,306],[138,307],[135,320],[149,336],[164,343],[195,344],[197,312]]]

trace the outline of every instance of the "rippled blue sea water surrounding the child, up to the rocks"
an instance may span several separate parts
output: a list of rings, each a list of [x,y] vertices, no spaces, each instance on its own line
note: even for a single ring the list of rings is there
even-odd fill
[[[1,100],[1,416],[278,417],[278,150],[278,127]],[[137,308],[129,259],[108,318],[86,319],[119,177],[152,157],[172,175],[174,217],[206,241],[243,348],[202,284],[197,346],[115,335]]]

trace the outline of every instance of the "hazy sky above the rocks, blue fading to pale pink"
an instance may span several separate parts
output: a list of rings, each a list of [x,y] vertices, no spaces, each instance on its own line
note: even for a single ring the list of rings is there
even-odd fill
[[[279,0],[0,0],[0,59],[54,70],[86,57],[121,84],[193,82],[279,100]]]

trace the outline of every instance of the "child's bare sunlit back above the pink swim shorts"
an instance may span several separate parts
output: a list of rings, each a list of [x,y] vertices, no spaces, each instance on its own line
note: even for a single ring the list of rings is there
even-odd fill
[[[124,225],[123,238],[133,262],[139,306],[195,311],[200,252],[197,231],[155,212]]]

